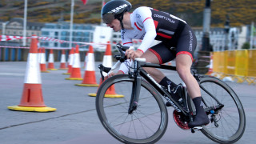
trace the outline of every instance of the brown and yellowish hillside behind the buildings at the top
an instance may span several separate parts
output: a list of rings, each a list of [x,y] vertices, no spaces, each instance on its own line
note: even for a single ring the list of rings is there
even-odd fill
[[[27,19],[30,22],[58,22],[58,19],[70,21],[71,0],[28,0]],[[102,0],[87,0],[84,6],[81,0],[74,0],[75,23],[99,23]],[[164,10],[186,20],[191,26],[202,26],[205,0],[130,0],[133,9],[138,6],[150,6]],[[231,26],[241,26],[256,21],[255,0],[213,0],[212,26],[223,26],[226,15],[230,17]],[[1,0],[0,20],[8,21],[10,18],[22,18],[24,1]]]

